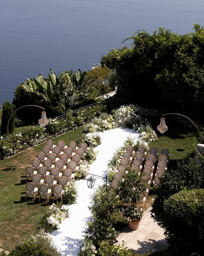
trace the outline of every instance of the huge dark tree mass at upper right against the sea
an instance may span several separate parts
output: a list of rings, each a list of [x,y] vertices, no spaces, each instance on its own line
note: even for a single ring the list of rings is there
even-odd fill
[[[162,106],[163,111],[171,106],[172,112],[203,122],[203,27],[196,24],[194,32],[187,35],[163,28],[153,35],[139,30],[127,39],[133,40],[129,49],[114,49],[102,57],[102,62],[116,71],[117,97],[140,106]]]

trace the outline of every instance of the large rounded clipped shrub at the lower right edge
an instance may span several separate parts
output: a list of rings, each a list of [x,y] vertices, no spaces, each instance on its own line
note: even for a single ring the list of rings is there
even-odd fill
[[[164,202],[162,227],[174,255],[202,254],[204,189],[182,190]]]

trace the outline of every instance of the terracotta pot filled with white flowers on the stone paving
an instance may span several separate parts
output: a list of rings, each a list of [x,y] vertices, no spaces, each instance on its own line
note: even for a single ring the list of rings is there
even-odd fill
[[[142,219],[144,211],[139,207],[134,207],[133,205],[123,208],[123,215],[127,218],[128,227],[131,230],[137,230],[139,228],[139,222]]]

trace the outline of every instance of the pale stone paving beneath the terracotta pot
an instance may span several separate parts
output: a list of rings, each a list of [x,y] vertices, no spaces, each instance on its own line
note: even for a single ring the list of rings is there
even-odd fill
[[[122,230],[117,237],[118,244],[122,244],[124,241],[125,247],[133,249],[135,253],[148,253],[164,250],[167,247],[164,229],[154,222],[150,211],[151,207],[145,211],[138,230],[130,230],[129,227]]]

